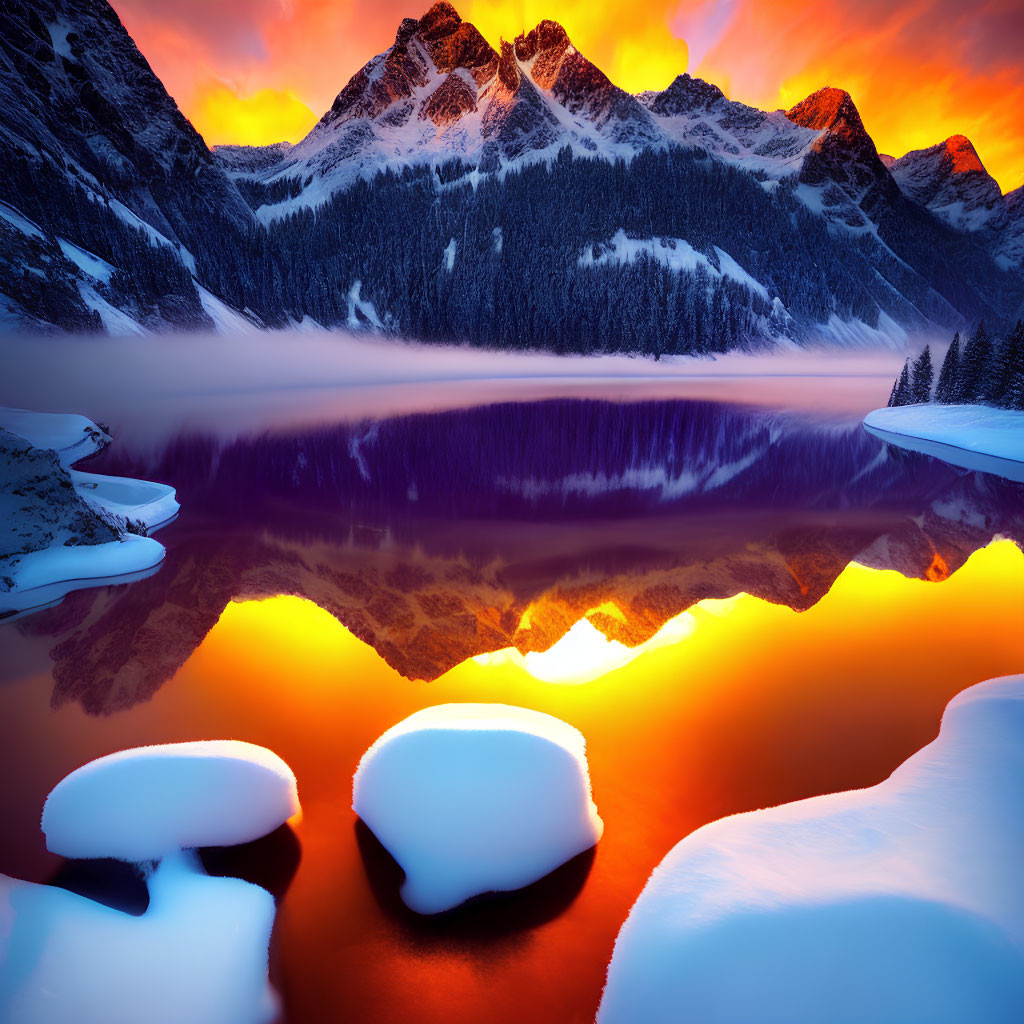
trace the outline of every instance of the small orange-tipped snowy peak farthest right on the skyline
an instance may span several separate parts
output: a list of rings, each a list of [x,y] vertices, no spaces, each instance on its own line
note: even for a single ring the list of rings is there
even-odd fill
[[[906,154],[892,174],[904,195],[954,227],[978,230],[1006,220],[1002,193],[964,135]]]

